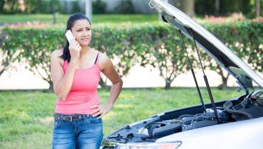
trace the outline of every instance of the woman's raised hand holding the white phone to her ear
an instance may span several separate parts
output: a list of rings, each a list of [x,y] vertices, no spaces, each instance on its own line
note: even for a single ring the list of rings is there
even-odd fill
[[[70,46],[68,47],[68,49],[70,50],[70,56],[71,56],[70,59],[73,60],[73,62],[77,62],[77,60],[80,57],[80,50],[81,50],[80,43],[78,43],[74,38],[73,40],[70,41]]]

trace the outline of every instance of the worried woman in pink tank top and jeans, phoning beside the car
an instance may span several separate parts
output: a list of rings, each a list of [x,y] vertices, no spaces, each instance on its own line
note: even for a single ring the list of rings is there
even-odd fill
[[[102,116],[112,109],[122,90],[122,79],[106,55],[89,47],[92,29],[87,16],[74,13],[68,18],[68,30],[75,38],[51,54],[51,78],[58,96],[53,148],[100,148]],[[100,72],[112,82],[104,105],[97,95]]]

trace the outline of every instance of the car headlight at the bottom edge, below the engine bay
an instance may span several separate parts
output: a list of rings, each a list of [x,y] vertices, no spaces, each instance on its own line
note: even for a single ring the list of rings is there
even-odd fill
[[[181,141],[163,143],[118,143],[115,149],[175,149],[182,144]]]

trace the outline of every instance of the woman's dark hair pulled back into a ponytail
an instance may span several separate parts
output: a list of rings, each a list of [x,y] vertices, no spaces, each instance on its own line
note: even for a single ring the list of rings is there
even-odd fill
[[[73,13],[73,15],[71,15],[68,18],[66,30],[71,31],[71,28],[73,28],[75,22],[78,20],[82,20],[82,19],[85,19],[90,23],[90,19],[87,18],[87,16],[85,16],[85,14],[80,13],[80,12]],[[70,50],[68,49],[68,46],[70,45],[70,43],[68,43],[67,39],[66,39],[66,41],[67,41],[67,43],[66,43],[65,47],[63,48],[63,55],[61,55],[60,58],[63,58],[63,60],[68,60],[68,62],[70,62]]]

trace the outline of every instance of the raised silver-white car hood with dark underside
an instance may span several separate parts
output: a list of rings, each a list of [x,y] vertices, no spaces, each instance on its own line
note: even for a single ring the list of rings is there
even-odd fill
[[[151,0],[149,5],[159,11],[163,21],[169,23],[173,28],[181,30],[190,40],[193,40],[190,32],[192,31],[197,45],[213,57],[230,75],[235,77],[242,89],[247,90],[248,88],[252,88],[252,80],[258,84],[259,87],[263,88],[263,79],[259,77],[257,73],[246,65],[245,62],[240,60],[237,55],[232,53],[224,43],[192,18],[163,0]]]

